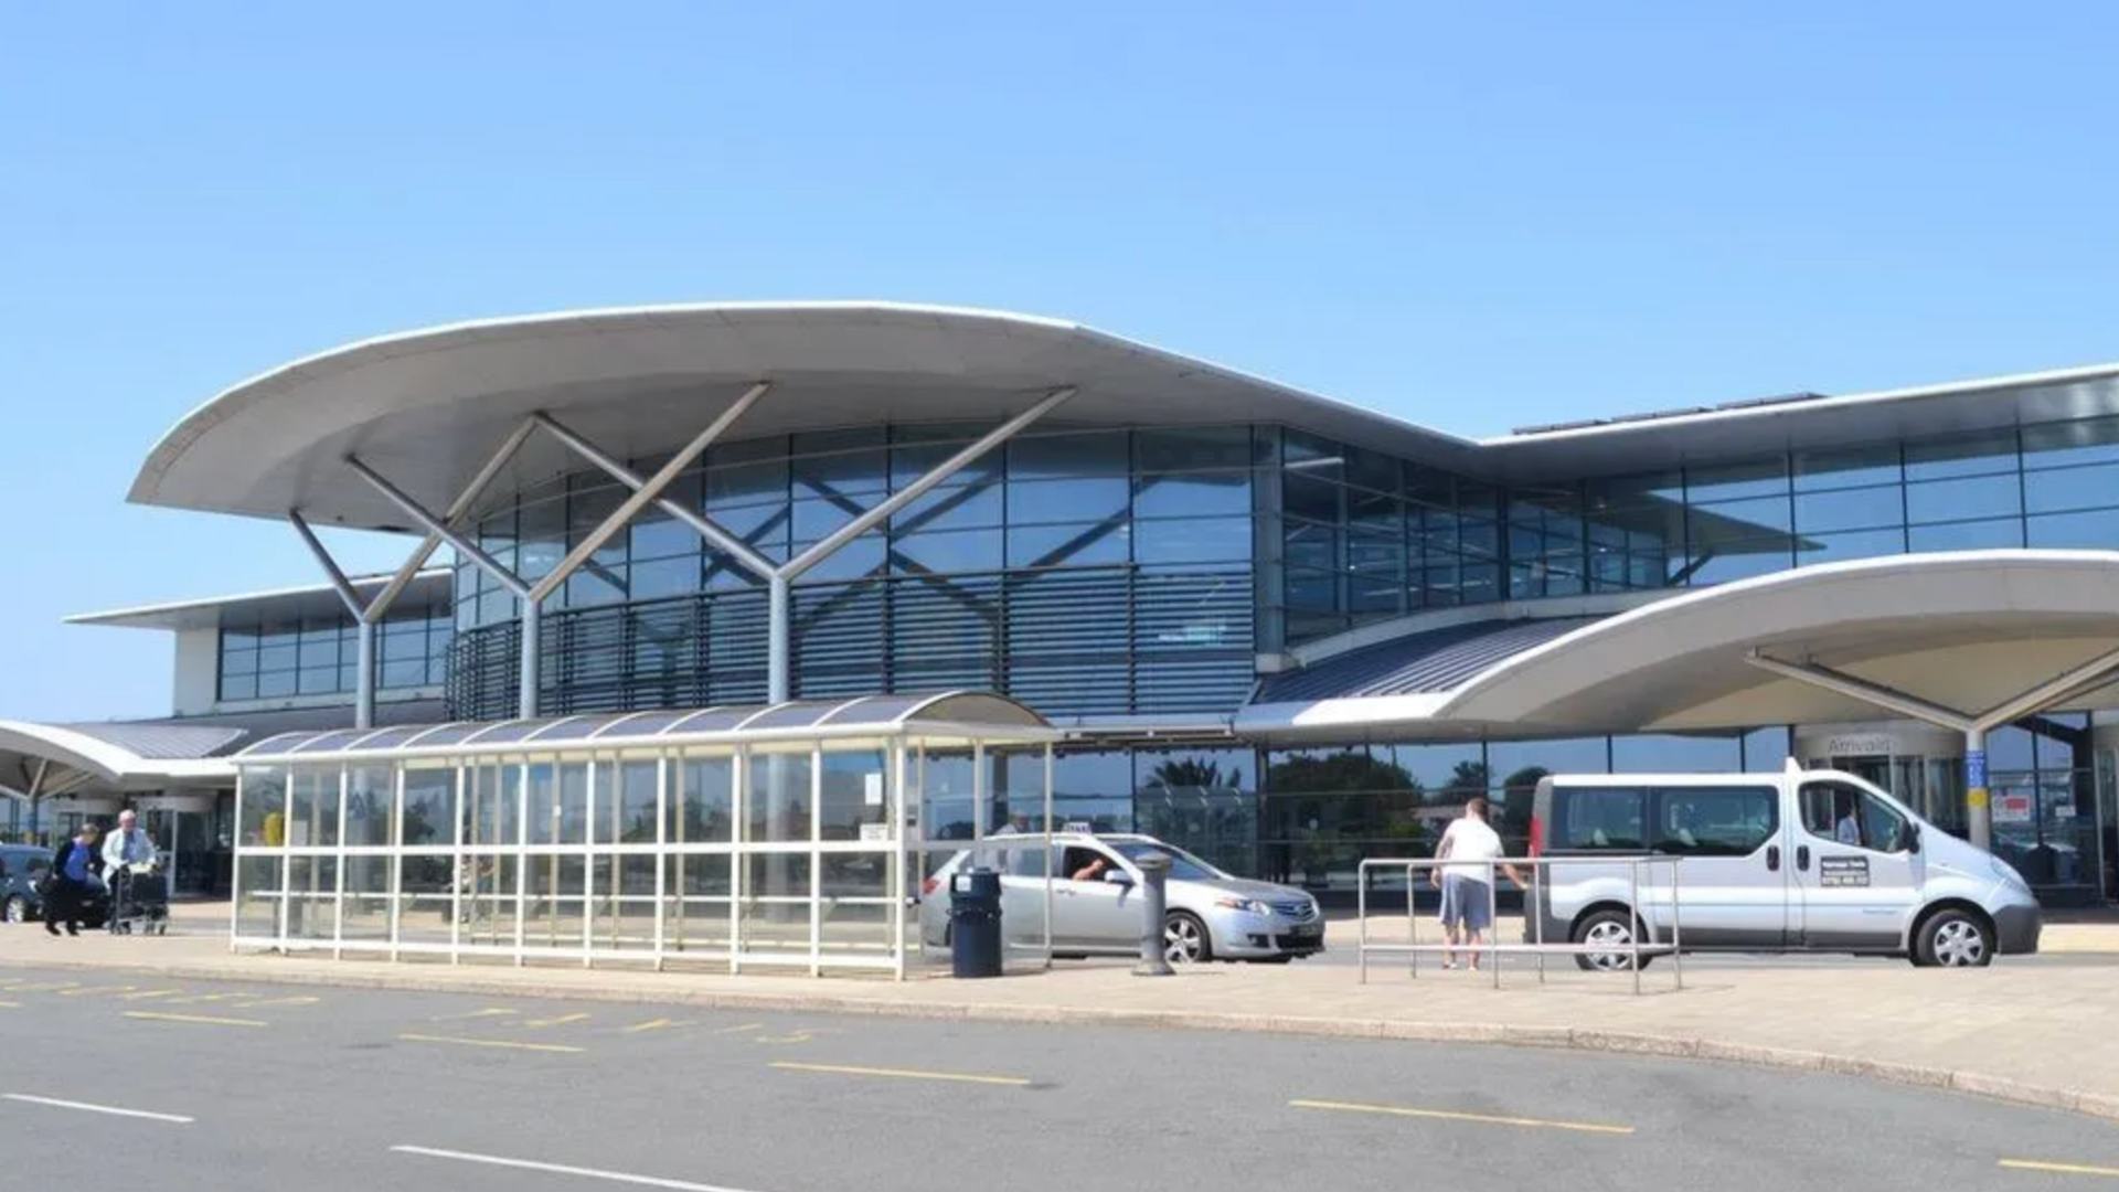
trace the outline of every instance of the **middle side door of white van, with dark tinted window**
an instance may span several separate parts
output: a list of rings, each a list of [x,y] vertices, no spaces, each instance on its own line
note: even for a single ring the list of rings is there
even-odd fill
[[[1649,921],[1670,937],[1672,901],[1687,948],[1784,948],[1788,944],[1788,859],[1780,787],[1670,785],[1651,789],[1649,851],[1678,857],[1651,865]]]

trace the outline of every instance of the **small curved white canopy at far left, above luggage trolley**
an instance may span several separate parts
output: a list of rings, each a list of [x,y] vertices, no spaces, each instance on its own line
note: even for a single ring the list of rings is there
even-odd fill
[[[38,800],[74,793],[231,785],[239,728],[44,725],[0,721],[0,789]]]

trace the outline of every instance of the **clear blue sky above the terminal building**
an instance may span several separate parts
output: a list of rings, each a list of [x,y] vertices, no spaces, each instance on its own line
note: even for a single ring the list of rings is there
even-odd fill
[[[311,581],[133,469],[441,320],[996,305],[1458,433],[2119,358],[2119,8],[1733,8],[8,6],[0,717],[165,711],[66,613]]]

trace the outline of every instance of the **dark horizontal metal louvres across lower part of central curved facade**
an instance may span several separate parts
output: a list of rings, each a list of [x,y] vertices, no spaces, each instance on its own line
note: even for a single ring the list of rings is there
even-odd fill
[[[1252,683],[1248,566],[901,575],[793,590],[795,694],[998,689],[1045,715],[1227,713]],[[767,596],[547,613],[542,713],[765,698]],[[449,715],[506,719],[515,624],[464,630]]]

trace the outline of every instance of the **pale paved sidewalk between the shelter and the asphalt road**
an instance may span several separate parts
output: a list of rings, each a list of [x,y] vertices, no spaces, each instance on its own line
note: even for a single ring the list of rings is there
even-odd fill
[[[1123,965],[1060,965],[1004,980],[865,980],[805,976],[653,974],[617,967],[506,967],[331,961],[231,954],[206,916],[199,933],[53,940],[38,927],[0,929],[0,974],[72,967],[159,980],[235,980],[420,988],[489,997],[907,1014],[1002,1022],[1104,1022],[1339,1037],[1452,1039],[1719,1058],[1844,1071],[2079,1109],[2119,1120],[2119,1010],[2111,965],[2009,965],[1981,971],[1897,963],[1695,969],[1670,991],[1668,963],[1630,978],[1553,965],[1547,984],[1509,971],[1490,978],[1377,967],[1367,986],[1348,965],[1208,965],[1170,980]]]

